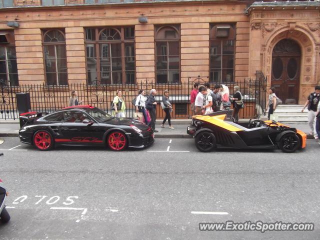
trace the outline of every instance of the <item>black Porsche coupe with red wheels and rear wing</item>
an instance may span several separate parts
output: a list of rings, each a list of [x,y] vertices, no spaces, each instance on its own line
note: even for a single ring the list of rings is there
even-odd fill
[[[120,151],[146,147],[154,141],[153,130],[143,122],[113,117],[90,105],[65,107],[50,114],[22,113],[20,125],[20,141],[39,150],[55,145],[104,145]]]

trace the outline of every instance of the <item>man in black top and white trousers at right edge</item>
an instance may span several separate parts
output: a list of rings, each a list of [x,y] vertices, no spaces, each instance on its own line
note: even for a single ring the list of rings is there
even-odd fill
[[[307,106],[308,108],[308,123],[310,127],[310,135],[314,134],[314,138],[318,139],[318,134],[315,131],[315,124],[314,124],[314,119],[315,119],[315,113],[316,113],[316,107],[318,105],[320,98],[320,86],[315,86],[314,87],[314,92],[310,93],[308,96],[308,99],[306,100],[301,112],[304,111],[304,108]]]

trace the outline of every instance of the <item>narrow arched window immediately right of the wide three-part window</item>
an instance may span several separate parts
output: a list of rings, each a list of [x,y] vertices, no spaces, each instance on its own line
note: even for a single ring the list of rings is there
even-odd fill
[[[180,27],[155,28],[156,82],[180,82]]]

